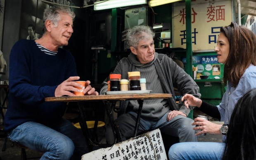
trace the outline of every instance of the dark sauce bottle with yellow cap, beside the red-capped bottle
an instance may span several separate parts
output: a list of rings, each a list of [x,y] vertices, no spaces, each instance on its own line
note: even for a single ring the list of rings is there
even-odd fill
[[[141,90],[140,88],[140,72],[128,72],[130,81],[130,90]]]

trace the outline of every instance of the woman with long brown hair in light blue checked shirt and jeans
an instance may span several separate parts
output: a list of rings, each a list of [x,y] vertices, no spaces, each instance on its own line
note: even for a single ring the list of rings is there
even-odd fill
[[[192,125],[200,126],[193,130],[201,130],[195,135],[223,134],[224,142],[235,104],[244,94],[256,88],[256,36],[248,28],[232,22],[230,26],[220,28],[214,50],[217,52],[218,62],[225,64],[223,81],[227,90],[221,103],[217,107],[212,106],[189,94],[184,95],[182,101],[186,107],[196,106],[209,116],[224,121],[224,125],[218,125],[195,118]],[[224,148],[225,143],[184,142],[171,146],[168,156],[170,160],[219,160]]]

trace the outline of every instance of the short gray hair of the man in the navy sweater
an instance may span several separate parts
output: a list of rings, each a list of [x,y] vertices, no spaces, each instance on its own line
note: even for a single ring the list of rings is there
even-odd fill
[[[64,7],[61,5],[56,5],[56,6],[45,9],[45,12],[43,13],[43,32],[44,33],[46,32],[45,21],[50,20],[53,23],[53,25],[56,27],[60,20],[60,14],[62,13],[69,14],[69,16],[72,17],[72,19],[74,19],[76,16],[76,14],[72,12],[69,7]]]

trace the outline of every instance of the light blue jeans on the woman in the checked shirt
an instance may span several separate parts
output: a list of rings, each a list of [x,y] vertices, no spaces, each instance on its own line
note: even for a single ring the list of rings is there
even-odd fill
[[[170,160],[221,160],[225,143],[184,142],[173,144],[169,149]]]

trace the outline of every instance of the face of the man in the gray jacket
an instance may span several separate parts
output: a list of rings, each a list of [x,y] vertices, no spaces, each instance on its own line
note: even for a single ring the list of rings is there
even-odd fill
[[[140,63],[146,64],[152,62],[155,56],[153,37],[145,35],[145,38],[139,41],[137,49],[131,46],[130,50],[137,56]]]

